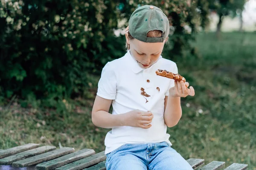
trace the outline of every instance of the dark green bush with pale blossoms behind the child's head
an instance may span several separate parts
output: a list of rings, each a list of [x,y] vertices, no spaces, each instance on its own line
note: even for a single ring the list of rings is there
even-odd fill
[[[0,96],[46,99],[52,107],[86,97],[90,76],[125,54],[124,35],[114,30],[124,29],[145,4],[169,18],[164,57],[196,54],[189,41],[208,23],[207,0],[1,0]]]

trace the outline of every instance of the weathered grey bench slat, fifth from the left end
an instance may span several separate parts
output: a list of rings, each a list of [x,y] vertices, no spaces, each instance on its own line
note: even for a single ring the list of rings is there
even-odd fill
[[[86,167],[90,167],[91,165],[97,164],[101,161],[105,161],[106,158],[107,157],[105,156],[105,151],[102,151],[100,153],[96,153],[95,155],[80,159],[79,161],[75,161],[62,167],[58,167],[55,170],[81,170]]]

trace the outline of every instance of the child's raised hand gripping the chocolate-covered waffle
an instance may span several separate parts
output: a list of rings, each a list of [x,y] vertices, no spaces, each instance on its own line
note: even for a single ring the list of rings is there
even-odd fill
[[[195,96],[195,90],[192,86],[189,87],[188,82],[177,81],[175,80],[175,86],[169,89],[169,96],[172,97],[186,97],[186,96]]]

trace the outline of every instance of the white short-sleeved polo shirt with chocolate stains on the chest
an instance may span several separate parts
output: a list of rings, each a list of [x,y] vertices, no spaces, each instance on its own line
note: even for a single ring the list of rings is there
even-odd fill
[[[97,95],[112,99],[112,114],[122,114],[133,110],[151,111],[154,118],[151,127],[114,127],[105,138],[105,154],[110,153],[123,144],[143,144],[166,141],[170,145],[170,135],[166,133],[164,123],[164,99],[169,95],[169,88],[174,80],[157,76],[157,69],[178,73],[177,65],[162,56],[149,68],[141,68],[128,51],[125,56],[108,62],[102,69]],[[146,94],[143,96],[141,90]],[[148,97],[146,97],[148,96]]]

